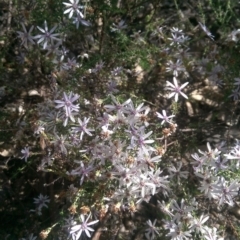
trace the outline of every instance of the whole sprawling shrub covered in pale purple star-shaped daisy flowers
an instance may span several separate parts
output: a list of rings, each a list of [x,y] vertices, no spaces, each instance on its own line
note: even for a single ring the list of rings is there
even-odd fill
[[[17,121],[21,171],[41,185],[22,239],[225,239],[230,226],[239,237],[219,216],[238,207],[239,140],[186,144],[191,109],[238,102],[234,47],[220,42],[239,30],[218,41],[203,21],[160,19],[154,1],[61,4],[40,1],[16,31],[18,64],[36,58],[46,81]]]

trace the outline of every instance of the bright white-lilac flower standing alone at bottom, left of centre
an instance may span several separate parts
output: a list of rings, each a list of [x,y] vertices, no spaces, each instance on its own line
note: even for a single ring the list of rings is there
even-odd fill
[[[94,232],[94,229],[89,226],[96,224],[99,220],[88,222],[90,216],[91,214],[89,214],[87,219],[85,219],[84,215],[81,214],[81,224],[71,227],[70,234],[72,235],[73,240],[78,240],[83,232],[87,235],[87,237],[91,237],[90,232]]]

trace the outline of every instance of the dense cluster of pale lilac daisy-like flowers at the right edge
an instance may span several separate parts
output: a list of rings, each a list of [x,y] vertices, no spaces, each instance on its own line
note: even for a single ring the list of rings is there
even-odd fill
[[[223,143],[224,144],[224,143]],[[194,161],[194,174],[200,179],[201,186],[199,190],[209,199],[218,201],[219,206],[228,204],[234,205],[234,197],[238,195],[240,184],[238,180],[229,181],[223,176],[219,177],[218,173],[221,170],[238,168],[231,159],[238,159],[236,150],[239,148],[238,142],[229,154],[221,154],[221,148],[212,149],[210,144],[207,144],[208,151],[203,152],[199,150],[200,156],[195,153],[192,155]]]

